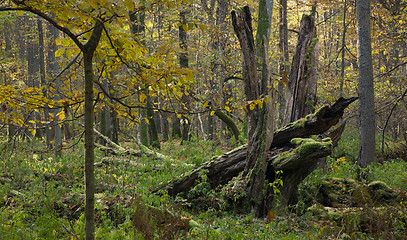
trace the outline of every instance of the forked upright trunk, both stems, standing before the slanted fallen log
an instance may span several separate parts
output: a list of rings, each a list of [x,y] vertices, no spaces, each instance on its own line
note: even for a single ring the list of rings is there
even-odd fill
[[[242,74],[245,82],[247,106],[247,160],[242,178],[246,182],[245,208],[253,211],[257,217],[264,217],[264,186],[267,169],[267,149],[273,138],[273,104],[264,103],[263,106],[252,106],[253,102],[261,101],[260,96],[272,98],[267,86],[270,82],[268,64],[268,45],[271,31],[271,16],[273,4],[270,0],[259,2],[259,22],[257,28],[256,44],[254,43],[251,14],[248,6],[232,11],[233,29],[239,39],[242,49]],[[257,50],[256,50],[257,49]],[[257,58],[257,59],[256,59]],[[257,65],[262,67],[261,77],[257,75]],[[259,81],[260,80],[260,81]],[[272,90],[271,90],[272,91]],[[272,102],[273,100],[271,100]],[[270,119],[268,119],[270,118]]]

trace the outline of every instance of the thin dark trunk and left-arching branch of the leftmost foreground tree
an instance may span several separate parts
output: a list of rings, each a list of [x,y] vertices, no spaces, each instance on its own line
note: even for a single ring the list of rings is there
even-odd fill
[[[115,17],[115,14],[110,16],[106,15],[107,12],[112,12],[111,9],[106,9],[95,3],[96,1],[89,1],[88,9],[97,8],[96,13],[91,16],[92,26],[89,29],[83,29],[88,37],[88,40],[80,39],[78,34],[75,34],[72,29],[69,29],[69,24],[63,23],[64,14],[67,14],[61,9],[59,3],[44,3],[43,1],[12,1],[12,4],[3,4],[0,6],[0,11],[26,11],[31,12],[39,17],[42,17],[55,28],[65,33],[76,44],[83,55],[83,70],[84,70],[84,86],[85,86],[85,238],[90,240],[95,238],[95,173],[94,173],[94,140],[93,140],[93,58],[96,48],[99,44],[103,29],[104,22]],[[106,4],[105,6],[111,6]],[[62,6],[63,7],[63,6]],[[84,6],[85,7],[85,6]],[[62,12],[61,12],[62,11]],[[113,11],[114,12],[114,11]],[[57,15],[58,14],[58,15]],[[57,18],[53,17],[57,15]],[[88,16],[89,17],[89,16]],[[62,23],[58,22],[61,21]],[[69,21],[69,19],[66,19]],[[82,25],[84,28],[85,26]],[[79,34],[80,36],[80,34]]]

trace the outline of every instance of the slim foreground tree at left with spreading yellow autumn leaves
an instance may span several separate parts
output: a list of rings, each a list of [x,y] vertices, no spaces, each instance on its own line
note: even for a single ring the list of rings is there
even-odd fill
[[[160,4],[167,8],[174,7],[171,1],[163,0],[160,1]],[[146,108],[145,100],[147,99],[145,92],[140,91],[135,86],[149,86],[151,95],[165,91],[171,92],[177,97],[181,93],[180,89],[190,84],[194,78],[192,71],[171,65],[175,62],[175,57],[166,54],[166,52],[171,50],[172,47],[164,44],[165,49],[148,52],[140,39],[131,37],[131,31],[123,26],[128,24],[131,27],[129,12],[140,14],[148,10],[147,6],[151,7],[151,2],[145,5],[139,3],[136,6],[132,0],[0,1],[0,12],[30,12],[45,19],[64,33],[65,37],[62,37],[63,39],[55,41],[55,44],[63,46],[56,50],[55,56],[60,57],[65,54],[71,61],[54,77],[54,80],[60,78],[63,72],[75,63],[80,54],[83,57],[84,91],[82,93],[64,92],[65,95],[73,97],[51,101],[42,94],[41,89],[38,87],[20,90],[11,85],[0,86],[0,102],[8,103],[7,106],[2,106],[2,109],[7,108],[7,111],[0,112],[0,119],[20,126],[26,124],[22,114],[18,115],[18,112],[27,109],[16,103],[18,102],[15,100],[17,98],[19,101],[27,102],[27,106],[43,108],[44,106],[55,107],[66,106],[67,104],[76,105],[79,112],[83,111],[85,119],[86,239],[94,239],[95,237],[94,111],[97,107],[104,107],[103,102],[106,102],[95,101],[95,99],[100,99],[99,97],[109,98],[112,102],[115,102],[115,112],[118,113],[119,117],[134,120],[136,119],[135,111],[132,110]],[[75,55],[76,57],[72,57]],[[98,67],[96,70],[98,70],[100,76],[112,78],[111,72],[123,68],[127,70],[127,75],[120,79],[121,84],[112,83],[115,88],[106,89],[99,81],[99,78],[94,77],[95,67]],[[177,84],[172,84],[174,82]],[[94,92],[94,84],[97,84],[100,89],[97,94]],[[141,101],[131,105],[134,96],[139,97]],[[171,97],[169,96],[169,98]],[[176,99],[176,97],[173,98]],[[84,103],[83,107],[82,103]],[[11,108],[14,108],[13,111],[8,110]],[[29,110],[31,111],[31,109]],[[151,107],[150,110],[152,110]],[[162,110],[171,112],[168,109]],[[60,111],[60,113],[58,124],[64,119],[62,114],[64,111]]]

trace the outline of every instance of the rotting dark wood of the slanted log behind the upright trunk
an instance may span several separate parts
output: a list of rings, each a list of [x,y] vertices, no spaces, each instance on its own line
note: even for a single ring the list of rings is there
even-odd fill
[[[271,169],[275,169],[273,166],[273,160],[277,158],[274,156],[275,153],[282,152],[282,149],[284,147],[293,147],[293,144],[290,143],[291,139],[307,138],[311,135],[322,134],[338,122],[340,117],[343,115],[344,109],[356,99],[357,98],[340,98],[331,107],[325,106],[317,113],[308,115],[307,117],[298,120],[301,121],[302,124],[290,124],[282,129],[277,130],[275,132],[273,143],[271,144],[267,171],[269,172],[271,171]],[[316,167],[316,161],[318,161],[318,159],[323,156],[329,155],[329,153],[330,152],[327,152],[326,149],[322,149],[321,151],[317,151],[317,153],[313,153],[315,155],[312,156],[312,159],[293,159],[293,161],[298,162],[298,166],[300,167],[299,171],[302,172],[295,172],[297,170],[288,169],[286,169],[285,172],[287,173],[287,176],[289,176],[291,173],[294,173],[294,175],[296,175],[295,177],[297,177],[295,181],[300,181],[302,180],[302,176],[308,175],[309,171],[313,170],[306,170],[305,168],[301,168],[302,161],[309,164],[311,160],[315,160],[315,163],[312,164],[315,164]],[[169,195],[175,196],[180,192],[188,191],[197,184],[197,180],[199,180],[199,173],[201,171],[206,171],[208,182],[211,184],[212,187],[223,185],[230,181],[233,177],[237,176],[241,171],[243,171],[246,164],[246,154],[247,148],[245,145],[243,145],[228,153],[225,153],[220,157],[204,163],[202,166],[192,170],[189,173],[186,173],[184,176],[179,177],[178,179],[167,185],[160,186],[155,192],[168,191]],[[283,166],[276,166],[277,168],[284,169]],[[286,179],[286,181],[289,181],[289,179]]]

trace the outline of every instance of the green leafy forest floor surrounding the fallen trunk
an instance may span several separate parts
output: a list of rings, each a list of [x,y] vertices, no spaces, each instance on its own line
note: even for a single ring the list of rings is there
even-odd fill
[[[159,151],[171,157],[168,160],[111,156],[97,149],[96,238],[404,239],[405,221],[389,219],[393,222],[386,229],[367,231],[358,226],[357,219],[323,220],[307,210],[315,202],[324,179],[356,177],[354,134],[351,129],[345,130],[325,168],[315,170],[304,180],[296,206],[282,216],[271,213],[264,220],[238,213],[236,208],[224,208],[212,189],[199,189],[204,198],[199,204],[152,193],[159,185],[233,148],[227,143],[163,142]],[[126,147],[137,149],[130,142]],[[76,145],[55,158],[45,151],[43,142],[35,141],[18,143],[2,153],[0,239],[84,239],[83,152],[83,146]],[[394,159],[374,163],[368,180],[381,180],[392,188],[405,190],[407,162]],[[159,223],[149,214],[151,209],[170,212],[177,218]],[[188,220],[189,226],[179,219]],[[146,225],[140,227],[141,223]]]

